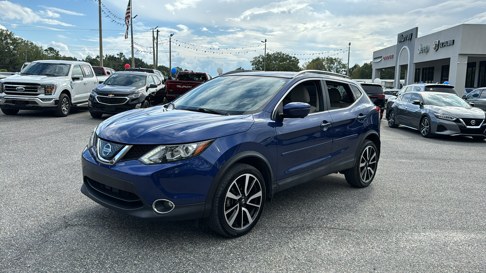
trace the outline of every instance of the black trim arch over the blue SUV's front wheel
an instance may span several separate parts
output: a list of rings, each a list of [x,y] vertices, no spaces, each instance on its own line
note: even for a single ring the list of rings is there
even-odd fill
[[[205,204],[205,211],[203,218],[209,216],[209,212],[212,206],[212,200],[214,197],[214,192],[219,185],[219,182],[234,164],[236,163],[243,163],[248,164],[250,166],[255,167],[258,171],[260,171],[261,175],[263,176],[266,188],[266,199],[271,198],[271,190],[272,190],[272,183],[274,182],[274,174],[272,170],[272,166],[268,159],[257,151],[244,151],[238,154],[233,155],[229,158],[225,164],[219,169],[218,173],[214,177],[211,186],[209,187],[208,196],[206,197],[206,204]]]

